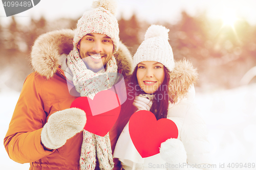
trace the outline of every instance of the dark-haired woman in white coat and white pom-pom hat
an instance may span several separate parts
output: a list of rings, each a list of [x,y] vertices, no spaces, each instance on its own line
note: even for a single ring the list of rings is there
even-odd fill
[[[120,127],[126,126],[114,151],[125,170],[209,167],[206,126],[193,103],[198,74],[189,62],[174,62],[168,31],[162,26],[148,28],[134,56],[127,101],[119,117]],[[160,154],[142,158],[134,147],[126,123],[138,110],[151,111],[157,119],[168,118],[177,125],[178,138],[163,142]]]

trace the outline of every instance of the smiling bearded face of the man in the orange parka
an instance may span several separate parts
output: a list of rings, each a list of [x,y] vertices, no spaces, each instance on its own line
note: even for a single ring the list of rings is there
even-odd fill
[[[103,34],[90,33],[82,37],[77,44],[77,48],[87,68],[98,72],[110,60],[114,45],[110,37]]]

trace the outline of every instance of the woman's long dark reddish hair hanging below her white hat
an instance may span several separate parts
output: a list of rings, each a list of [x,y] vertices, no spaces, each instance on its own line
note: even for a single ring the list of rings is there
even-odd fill
[[[133,74],[130,76],[126,83],[127,100],[121,106],[121,112],[118,117],[118,129],[122,131],[124,126],[129,121],[132,114],[136,111],[136,107],[133,106],[134,99],[137,95],[145,93],[138,84],[137,69],[134,69]],[[157,89],[153,98],[153,103],[150,111],[155,114],[157,120],[160,118],[166,118],[168,113],[169,104],[169,88],[170,81],[168,69],[164,66],[165,78],[163,83]],[[120,131],[120,133],[121,133]]]

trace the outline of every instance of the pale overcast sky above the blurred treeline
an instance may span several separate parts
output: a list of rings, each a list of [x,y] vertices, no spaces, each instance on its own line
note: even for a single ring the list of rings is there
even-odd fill
[[[16,14],[18,22],[28,23],[31,17],[44,15],[47,19],[60,17],[78,18],[91,8],[93,0],[41,0],[38,5],[25,12]],[[166,20],[175,23],[180,19],[181,11],[190,15],[206,12],[210,18],[222,18],[225,13],[244,17],[251,25],[256,25],[256,0],[118,0],[117,17],[121,13],[129,18],[133,12],[140,19],[151,23]],[[0,23],[8,24],[3,4],[0,4]]]

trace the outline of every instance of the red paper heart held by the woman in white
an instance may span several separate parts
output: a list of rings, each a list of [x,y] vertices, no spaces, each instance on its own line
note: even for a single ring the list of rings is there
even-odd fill
[[[142,158],[156,155],[162,142],[178,137],[176,124],[167,118],[156,119],[146,110],[135,112],[129,120],[129,133]]]

